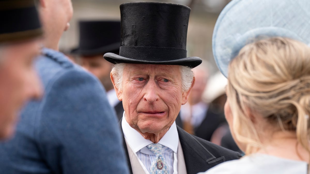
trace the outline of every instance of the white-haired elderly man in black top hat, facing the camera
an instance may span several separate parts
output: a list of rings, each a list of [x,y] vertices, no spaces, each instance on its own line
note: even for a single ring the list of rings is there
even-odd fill
[[[175,124],[194,84],[186,56],[190,8],[160,2],[131,2],[121,9],[120,54],[106,53],[111,79],[123,102],[121,121],[127,161],[134,174],[206,171],[237,152],[186,133]]]

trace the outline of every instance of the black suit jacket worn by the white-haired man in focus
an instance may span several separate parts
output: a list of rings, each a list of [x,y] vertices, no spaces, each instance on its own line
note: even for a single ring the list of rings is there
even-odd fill
[[[121,122],[122,120],[120,121],[119,125],[122,130]],[[239,159],[241,157],[241,154],[239,154],[238,152],[228,150],[224,147],[215,145],[209,141],[193,136],[185,132],[179,126],[177,126],[177,130],[179,133],[179,140],[183,149],[186,171],[188,174],[205,172],[206,170],[214,167],[219,163],[223,163],[224,161],[229,161],[233,159]],[[129,170],[132,174],[132,168],[129,160],[125,138],[123,139],[123,141],[127,156],[127,163],[129,166]]]

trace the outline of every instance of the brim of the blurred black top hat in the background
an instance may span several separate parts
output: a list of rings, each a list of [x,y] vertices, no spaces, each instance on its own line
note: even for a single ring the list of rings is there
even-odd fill
[[[119,46],[121,45],[120,42],[110,44],[107,46],[103,46],[100,48],[95,49],[81,49],[81,48],[74,48],[70,51],[71,54],[78,54],[82,56],[91,56],[91,55],[98,55],[98,54],[105,54],[107,52],[117,51],[119,50]]]

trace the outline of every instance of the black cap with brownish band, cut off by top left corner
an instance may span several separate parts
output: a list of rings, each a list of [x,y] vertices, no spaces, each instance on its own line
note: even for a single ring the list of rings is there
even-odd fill
[[[42,35],[34,0],[0,0],[0,43]]]

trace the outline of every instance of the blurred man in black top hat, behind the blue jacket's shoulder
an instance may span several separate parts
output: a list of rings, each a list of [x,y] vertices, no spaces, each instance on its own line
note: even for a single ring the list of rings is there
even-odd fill
[[[94,74],[107,90],[110,105],[114,107],[118,120],[123,116],[123,104],[117,99],[110,72],[113,63],[103,58],[105,53],[118,54],[121,46],[120,21],[80,21],[79,46],[71,51],[86,70]]]

